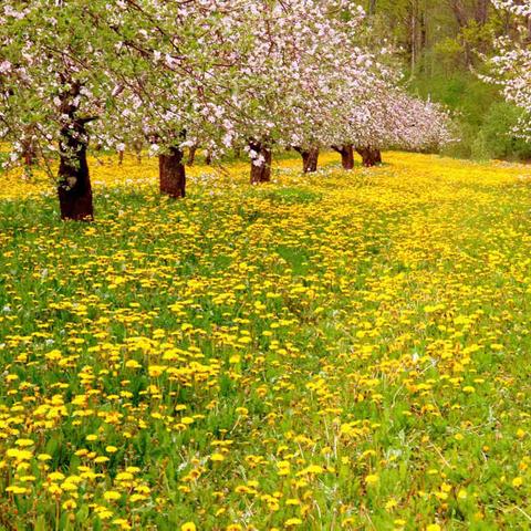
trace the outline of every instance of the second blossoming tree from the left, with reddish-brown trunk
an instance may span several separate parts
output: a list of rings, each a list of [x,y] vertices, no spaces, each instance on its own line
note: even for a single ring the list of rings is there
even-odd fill
[[[232,145],[235,124],[227,108],[247,39],[239,25],[246,6],[241,0],[137,0],[117,8],[114,30],[128,61],[118,62],[114,72],[119,97],[102,137],[118,149],[147,140],[159,158],[160,191],[170,197],[185,196],[187,147],[200,145],[219,155]]]

